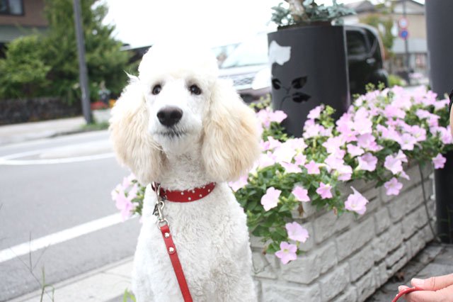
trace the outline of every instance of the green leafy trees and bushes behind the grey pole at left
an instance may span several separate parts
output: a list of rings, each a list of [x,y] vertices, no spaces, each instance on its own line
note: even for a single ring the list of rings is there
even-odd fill
[[[120,93],[127,81],[125,69],[128,69],[130,55],[121,51],[122,43],[112,38],[115,27],[102,23],[107,11],[104,3],[96,0],[81,1],[91,100],[98,99],[99,84],[102,81],[105,81],[105,86],[114,95]],[[68,103],[80,98],[73,1],[45,0],[45,16],[49,22],[47,33],[33,38],[37,54],[33,57],[32,66],[40,67],[40,81],[21,79],[14,82],[14,85],[9,84],[8,87],[11,88],[0,90],[0,97],[27,96],[24,92],[29,90],[29,94],[34,96],[60,96]],[[23,53],[13,47],[15,43],[8,45],[6,59],[0,60],[0,70],[3,70],[4,65],[8,66],[8,73],[0,73],[0,83],[7,81],[6,78],[15,74],[15,70],[26,69],[29,65],[28,62],[11,60],[12,57],[21,57]],[[33,69],[37,69],[35,67]],[[27,90],[27,85],[30,84],[32,86]]]

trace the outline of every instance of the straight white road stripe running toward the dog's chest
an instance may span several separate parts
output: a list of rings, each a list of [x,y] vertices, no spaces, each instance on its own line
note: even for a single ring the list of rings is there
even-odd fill
[[[0,263],[6,262],[15,257],[27,255],[30,252],[35,252],[44,247],[49,247],[51,245],[56,245],[57,243],[80,237],[81,235],[96,232],[96,230],[108,228],[118,223],[122,223],[122,217],[120,213],[92,220],[81,225],[76,225],[73,228],[67,228],[66,230],[40,237],[38,239],[31,240],[30,242],[24,242],[20,245],[8,247],[0,251]]]

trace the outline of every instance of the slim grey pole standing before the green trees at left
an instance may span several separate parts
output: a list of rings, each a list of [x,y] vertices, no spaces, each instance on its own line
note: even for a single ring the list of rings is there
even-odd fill
[[[91,123],[90,89],[85,61],[85,40],[81,23],[80,0],[74,0],[74,19],[76,23],[77,53],[79,54],[79,82],[82,91],[82,111],[87,124]]]

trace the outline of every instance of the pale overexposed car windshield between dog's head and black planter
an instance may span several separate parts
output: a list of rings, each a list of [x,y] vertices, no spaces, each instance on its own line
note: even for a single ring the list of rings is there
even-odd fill
[[[268,63],[268,37],[256,35],[236,47],[220,68],[265,65]]]

